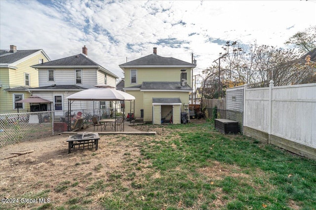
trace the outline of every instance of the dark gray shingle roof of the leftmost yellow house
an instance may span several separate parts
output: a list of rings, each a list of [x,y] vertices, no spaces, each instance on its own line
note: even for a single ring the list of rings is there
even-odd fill
[[[0,63],[14,63],[40,50],[18,50],[10,53],[10,50],[0,50]]]

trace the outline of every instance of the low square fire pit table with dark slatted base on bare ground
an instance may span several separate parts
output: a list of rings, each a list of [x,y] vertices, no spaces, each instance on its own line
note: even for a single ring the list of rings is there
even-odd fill
[[[68,142],[68,153],[73,150],[94,149],[98,150],[98,141],[100,137],[98,133],[80,132],[70,136]]]

